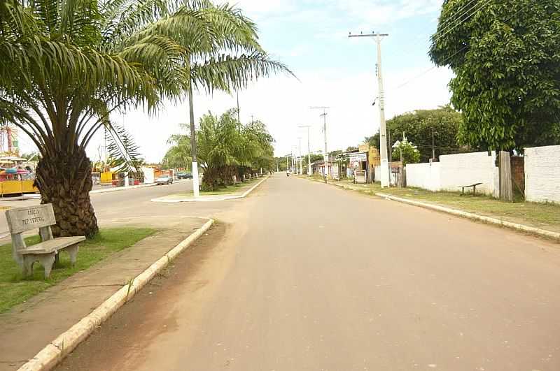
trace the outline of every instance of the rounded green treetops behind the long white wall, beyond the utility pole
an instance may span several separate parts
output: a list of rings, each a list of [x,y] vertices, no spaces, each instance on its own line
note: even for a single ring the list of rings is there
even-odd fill
[[[420,152],[420,161],[428,162],[432,158],[432,131],[435,144],[435,157],[442,154],[463,152],[458,145],[457,134],[463,117],[450,106],[435,110],[415,110],[396,115],[386,123],[387,133],[391,132],[391,145],[404,132],[407,138],[416,143]],[[374,136],[365,138],[365,142],[379,148],[379,131]]]

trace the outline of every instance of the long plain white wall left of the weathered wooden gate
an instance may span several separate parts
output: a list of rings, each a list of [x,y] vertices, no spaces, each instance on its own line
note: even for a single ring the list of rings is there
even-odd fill
[[[430,191],[461,191],[459,187],[475,183],[477,191],[499,195],[496,154],[473,152],[446,154],[440,162],[407,165],[407,185]]]

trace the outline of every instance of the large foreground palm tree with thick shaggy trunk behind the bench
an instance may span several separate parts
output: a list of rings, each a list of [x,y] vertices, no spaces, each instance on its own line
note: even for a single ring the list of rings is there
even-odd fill
[[[227,91],[284,68],[261,50],[239,10],[205,0],[0,4],[0,117],[41,152],[37,183],[55,210],[55,235],[97,232],[85,148],[99,129],[134,163],[111,112],[153,112],[185,93],[192,107],[197,87]]]

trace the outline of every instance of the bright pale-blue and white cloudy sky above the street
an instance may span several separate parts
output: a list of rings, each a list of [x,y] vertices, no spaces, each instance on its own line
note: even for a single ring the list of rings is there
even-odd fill
[[[311,106],[328,106],[328,151],[363,143],[379,129],[379,106],[373,38],[348,38],[372,31],[389,34],[381,43],[386,118],[449,103],[447,68],[433,68],[429,37],[437,27],[442,0],[239,0],[237,7],[258,24],[260,43],[297,76],[276,75],[239,92],[241,122],[260,119],[274,136],[276,156],[323,149],[321,114]],[[429,71],[428,71],[429,70]],[[195,119],[209,110],[219,115],[237,106],[235,95],[201,93],[194,99]],[[167,103],[155,115],[141,110],[113,115],[140,146],[146,161],[159,162],[167,138],[188,122],[188,103]],[[99,159],[102,133],[90,145]],[[20,137],[23,152],[31,145]]]

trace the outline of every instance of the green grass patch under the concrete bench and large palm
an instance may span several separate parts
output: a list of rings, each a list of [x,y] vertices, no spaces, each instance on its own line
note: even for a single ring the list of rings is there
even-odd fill
[[[80,243],[80,252],[73,268],[70,266],[69,255],[64,252],[60,254],[59,264],[52,270],[49,279],[44,278],[44,270],[39,263],[34,264],[33,276],[24,279],[18,264],[13,260],[12,245],[1,245],[0,313],[23,303],[66,277],[90,268],[111,254],[131,247],[155,232],[157,230],[152,228],[102,228],[95,238]],[[29,246],[38,243],[40,239],[36,235],[26,238],[25,241]]]

